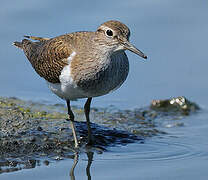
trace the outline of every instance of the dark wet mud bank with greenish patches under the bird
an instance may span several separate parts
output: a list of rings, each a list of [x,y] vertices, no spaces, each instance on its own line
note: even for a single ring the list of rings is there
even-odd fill
[[[143,143],[147,137],[165,133],[160,130],[161,121],[184,118],[197,110],[199,107],[185,97],[153,100],[149,107],[135,110],[94,108],[91,111],[93,149],[102,152],[108,146]],[[84,150],[87,137],[84,112],[78,107],[73,107],[73,111],[79,143]],[[73,136],[66,119],[63,105],[0,98],[0,173],[33,168],[40,160],[48,164],[51,160],[72,158]]]

